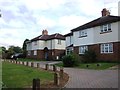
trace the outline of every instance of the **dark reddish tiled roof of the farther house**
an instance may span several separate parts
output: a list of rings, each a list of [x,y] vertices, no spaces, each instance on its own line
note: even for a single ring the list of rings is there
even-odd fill
[[[47,40],[51,40],[51,39],[65,40],[65,37],[59,33],[56,33],[56,34],[52,34],[52,35],[40,35],[40,36],[37,36],[37,37],[31,39],[31,41],[37,41],[37,40],[47,41]]]

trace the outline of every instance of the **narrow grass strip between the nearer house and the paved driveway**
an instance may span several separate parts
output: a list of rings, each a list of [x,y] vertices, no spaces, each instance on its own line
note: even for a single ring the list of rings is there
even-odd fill
[[[97,66],[99,64],[99,66]],[[56,64],[59,67],[63,67],[63,63]],[[88,67],[87,67],[88,65]],[[118,65],[118,63],[107,63],[107,62],[99,62],[99,63],[81,63],[78,66],[75,66],[74,68],[80,68],[80,69],[94,69],[94,70],[104,70],[108,69],[112,66]]]

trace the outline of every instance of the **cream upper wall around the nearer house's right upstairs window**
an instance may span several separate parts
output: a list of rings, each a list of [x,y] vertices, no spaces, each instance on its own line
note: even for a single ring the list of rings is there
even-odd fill
[[[118,41],[118,22],[111,24],[110,33],[100,34],[100,26],[94,27],[94,44],[106,43],[106,42],[117,42]]]

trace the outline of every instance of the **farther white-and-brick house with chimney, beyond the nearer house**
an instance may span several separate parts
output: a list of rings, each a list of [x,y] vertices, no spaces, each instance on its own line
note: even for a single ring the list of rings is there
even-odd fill
[[[48,35],[43,30],[42,35],[27,42],[27,58],[57,60],[64,54],[65,37],[59,33]]]

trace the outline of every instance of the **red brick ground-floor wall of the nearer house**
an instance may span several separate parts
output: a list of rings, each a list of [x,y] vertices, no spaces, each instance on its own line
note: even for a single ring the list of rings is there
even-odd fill
[[[120,42],[113,43],[113,53],[104,54],[100,51],[100,44],[89,45],[88,49],[94,50],[97,59],[102,61],[120,61]],[[79,47],[74,47],[74,52],[79,54]]]

